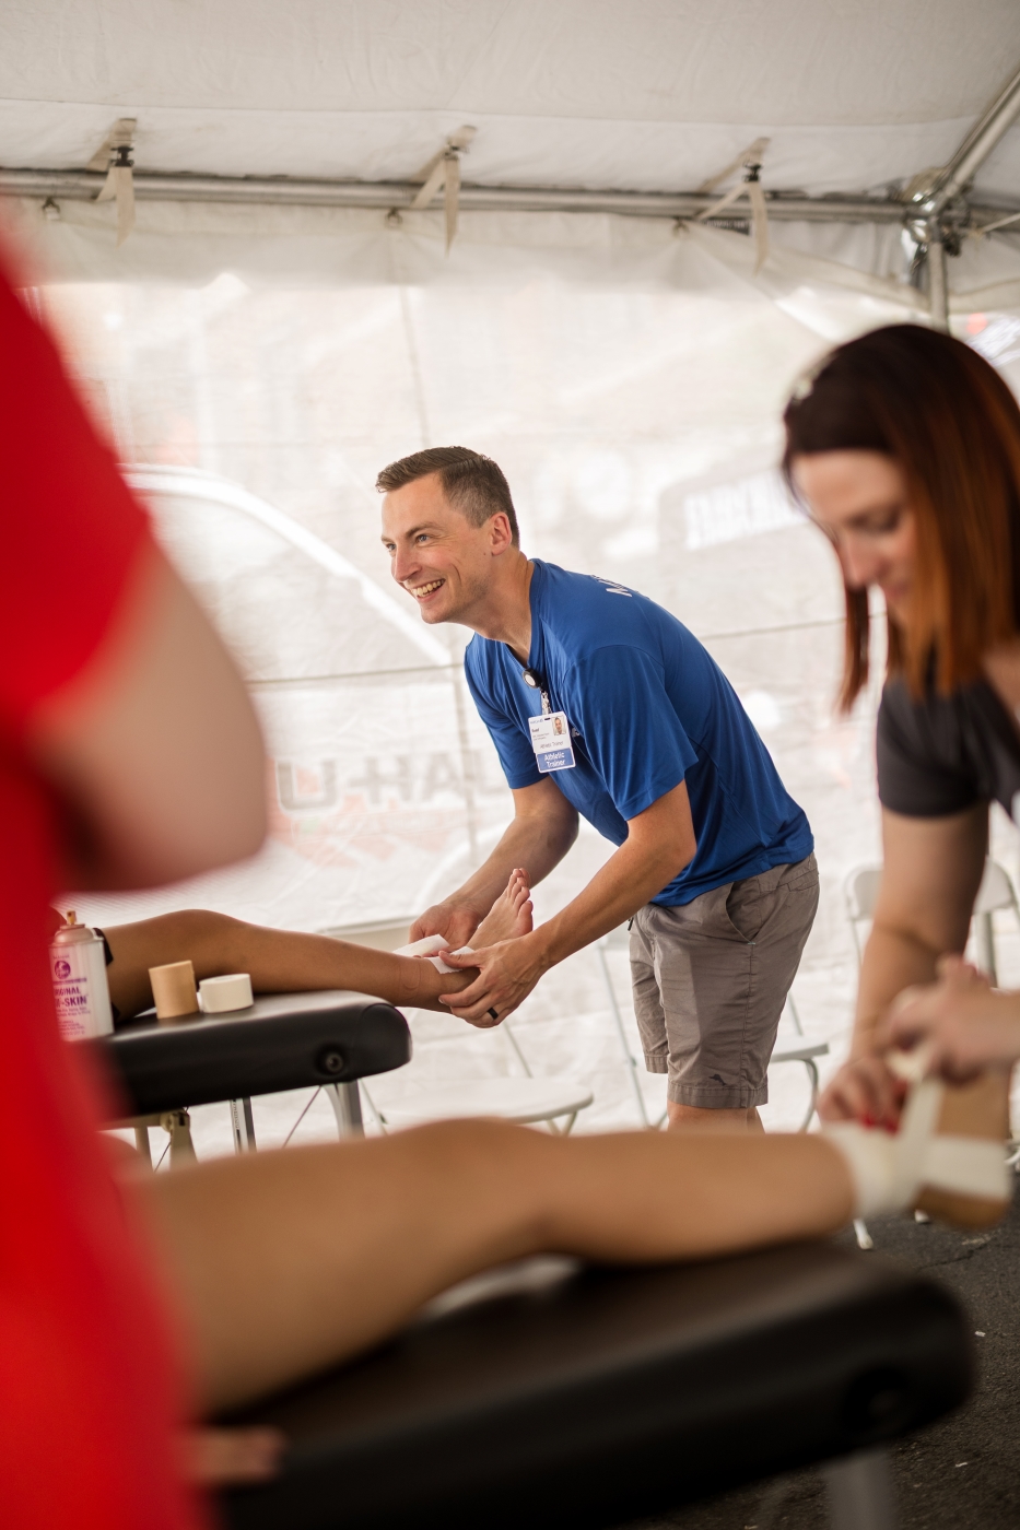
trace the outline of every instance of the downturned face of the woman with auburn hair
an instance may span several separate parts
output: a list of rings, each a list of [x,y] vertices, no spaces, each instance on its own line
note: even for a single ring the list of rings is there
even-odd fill
[[[847,588],[878,584],[904,627],[917,565],[917,520],[904,470],[882,451],[812,451],[793,457],[792,471],[836,549]]]

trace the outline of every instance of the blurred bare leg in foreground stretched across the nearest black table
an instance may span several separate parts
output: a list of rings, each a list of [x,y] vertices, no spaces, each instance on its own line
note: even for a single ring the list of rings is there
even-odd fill
[[[821,1236],[853,1212],[821,1137],[554,1138],[498,1121],[219,1160],[132,1192],[210,1409],[354,1354],[507,1259],[700,1258]]]

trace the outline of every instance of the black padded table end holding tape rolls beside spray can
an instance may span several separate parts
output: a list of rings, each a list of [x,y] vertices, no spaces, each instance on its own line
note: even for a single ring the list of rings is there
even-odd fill
[[[277,993],[208,1019],[142,1017],[78,1045],[101,1054],[133,1115],[346,1083],[410,1059],[400,1010],[342,990]]]

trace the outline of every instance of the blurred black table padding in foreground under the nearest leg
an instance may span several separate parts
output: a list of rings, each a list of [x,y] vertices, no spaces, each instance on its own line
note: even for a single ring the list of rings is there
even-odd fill
[[[617,1525],[893,1440],[971,1386],[960,1307],[879,1255],[548,1264],[234,1415],[289,1447],[224,1495],[231,1530]]]

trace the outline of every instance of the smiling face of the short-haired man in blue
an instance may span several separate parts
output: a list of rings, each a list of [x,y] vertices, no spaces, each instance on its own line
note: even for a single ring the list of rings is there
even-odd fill
[[[489,597],[493,558],[513,546],[499,513],[473,526],[447,500],[438,473],[391,490],[383,499],[383,546],[397,583],[427,623],[475,626]]]

